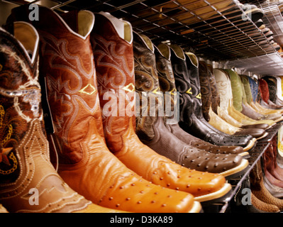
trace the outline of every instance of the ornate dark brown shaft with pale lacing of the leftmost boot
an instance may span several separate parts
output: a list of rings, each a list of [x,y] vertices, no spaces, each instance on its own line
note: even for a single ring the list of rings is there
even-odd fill
[[[0,183],[14,182],[21,172],[25,174],[25,158],[18,146],[33,121],[43,127],[38,33],[27,23],[13,23],[10,28],[14,36],[0,29]]]

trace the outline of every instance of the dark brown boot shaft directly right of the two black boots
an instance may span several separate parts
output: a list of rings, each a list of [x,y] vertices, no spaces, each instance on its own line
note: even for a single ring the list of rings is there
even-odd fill
[[[209,82],[209,69],[206,62],[199,61],[199,82],[201,85],[202,112],[206,121],[210,120],[209,108],[211,107],[211,86]]]

